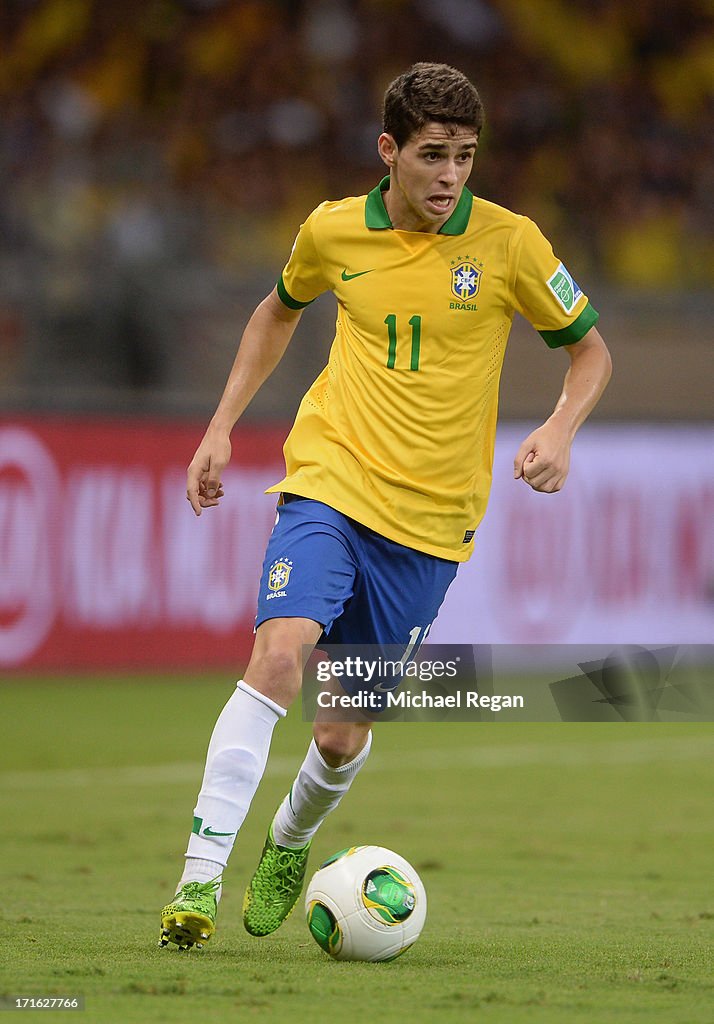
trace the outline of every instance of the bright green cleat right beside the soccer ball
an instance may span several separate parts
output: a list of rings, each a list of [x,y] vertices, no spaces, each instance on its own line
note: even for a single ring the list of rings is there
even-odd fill
[[[278,846],[270,825],[260,861],[243,898],[243,924],[251,935],[275,932],[295,906],[302,891],[309,849],[309,843],[299,850]]]

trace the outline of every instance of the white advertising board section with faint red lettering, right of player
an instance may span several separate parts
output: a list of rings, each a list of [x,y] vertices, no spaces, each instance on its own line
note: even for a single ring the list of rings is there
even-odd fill
[[[714,426],[586,424],[557,495],[513,479],[503,424],[489,509],[429,634],[490,644],[711,644]]]

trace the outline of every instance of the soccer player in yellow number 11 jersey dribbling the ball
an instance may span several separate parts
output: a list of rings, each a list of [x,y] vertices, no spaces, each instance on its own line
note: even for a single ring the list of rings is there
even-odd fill
[[[453,68],[418,63],[391,83],[377,142],[387,176],[307,217],[188,467],[201,515],[222,497],[234,425],[301,310],[332,291],[335,339],[285,444],[286,475],[270,488],[281,497],[253,651],[211,736],[162,945],[202,945],[214,931],[221,873],[274,727],[299,692],[303,648],[325,636],[414,650],[470,556],[514,311],[570,358],[554,412],[515,455],[516,479],[547,493],[563,485],[574,435],[610,377],[597,313],[538,227],[466,188],[482,123],[475,88]],[[252,935],[275,931],[293,908],[312,837],[370,745],[369,724],[314,724],[246,891]]]

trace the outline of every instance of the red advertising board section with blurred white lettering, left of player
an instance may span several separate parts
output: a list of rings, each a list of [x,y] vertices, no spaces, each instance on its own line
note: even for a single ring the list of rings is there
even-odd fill
[[[185,467],[203,426],[0,422],[0,670],[244,663],[285,429],[235,432],[219,509]]]

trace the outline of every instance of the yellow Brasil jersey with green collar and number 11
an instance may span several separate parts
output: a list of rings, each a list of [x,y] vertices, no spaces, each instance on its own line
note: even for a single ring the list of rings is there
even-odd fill
[[[536,224],[464,188],[438,233],[396,230],[382,193],[319,206],[278,282],[300,309],[337,297],[328,365],[269,492],[325,502],[389,540],[466,561],[491,489],[515,310],[555,348],[597,312]]]

